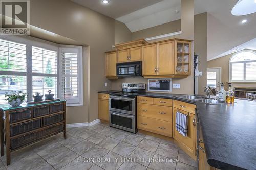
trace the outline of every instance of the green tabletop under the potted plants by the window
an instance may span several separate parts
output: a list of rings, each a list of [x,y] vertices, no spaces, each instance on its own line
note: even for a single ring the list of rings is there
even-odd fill
[[[45,103],[36,103],[36,104],[27,104],[26,102],[23,102],[21,105],[15,106],[15,107],[11,106],[7,103],[7,104],[0,104],[0,109],[3,111],[7,111],[7,110],[13,110],[13,109],[22,109],[22,108],[27,108],[27,107],[32,107],[32,106],[48,105],[48,104],[59,103],[59,102],[64,102],[64,101],[66,101],[66,100],[60,99],[60,100],[56,100],[56,101],[49,101],[49,102],[45,102]]]

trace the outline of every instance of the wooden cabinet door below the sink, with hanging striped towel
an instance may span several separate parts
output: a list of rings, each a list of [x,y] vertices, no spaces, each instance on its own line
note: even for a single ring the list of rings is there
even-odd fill
[[[187,136],[181,135],[176,130],[176,113],[177,112],[188,115]],[[173,108],[173,137],[182,145],[182,148],[190,153],[196,155],[196,122],[195,115],[183,111],[181,109]]]

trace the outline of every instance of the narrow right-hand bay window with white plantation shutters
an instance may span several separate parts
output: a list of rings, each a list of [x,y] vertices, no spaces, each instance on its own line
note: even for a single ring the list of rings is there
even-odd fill
[[[81,106],[82,99],[82,48],[61,47],[61,96],[68,106]]]

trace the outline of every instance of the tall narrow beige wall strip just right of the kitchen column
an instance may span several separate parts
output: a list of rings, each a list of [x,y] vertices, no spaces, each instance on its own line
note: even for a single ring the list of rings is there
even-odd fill
[[[205,94],[207,84],[207,13],[195,15],[195,54],[198,55],[198,70],[202,71],[198,77],[198,94]]]

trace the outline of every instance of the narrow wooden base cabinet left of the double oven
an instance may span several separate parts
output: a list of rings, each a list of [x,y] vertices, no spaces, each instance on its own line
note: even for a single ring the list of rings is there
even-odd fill
[[[109,122],[109,94],[98,94],[98,117]]]

